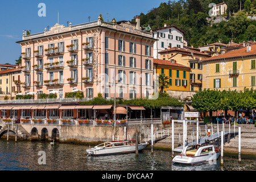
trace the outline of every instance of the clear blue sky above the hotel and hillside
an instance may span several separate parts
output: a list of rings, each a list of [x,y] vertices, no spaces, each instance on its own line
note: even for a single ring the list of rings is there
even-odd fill
[[[0,64],[15,64],[20,56],[20,46],[16,42],[22,40],[23,30],[31,30],[31,34],[43,32],[47,26],[52,27],[57,23],[59,11],[59,24],[67,26],[67,21],[73,25],[97,20],[102,14],[106,21],[112,18],[131,20],[135,15],[147,14],[161,2],[168,0],[22,0],[1,1],[0,16]],[[46,5],[46,17],[38,16],[39,3]]]

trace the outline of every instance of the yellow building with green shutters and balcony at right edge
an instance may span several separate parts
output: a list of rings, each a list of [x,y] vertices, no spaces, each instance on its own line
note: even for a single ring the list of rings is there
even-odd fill
[[[203,89],[243,90],[255,88],[256,44],[201,60]]]

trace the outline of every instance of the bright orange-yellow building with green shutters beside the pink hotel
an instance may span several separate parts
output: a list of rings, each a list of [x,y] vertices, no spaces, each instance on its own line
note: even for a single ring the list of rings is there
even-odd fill
[[[167,90],[189,91],[189,71],[189,67],[177,64],[175,61],[154,59],[154,74],[164,74],[169,77],[171,86],[164,89],[164,92]]]

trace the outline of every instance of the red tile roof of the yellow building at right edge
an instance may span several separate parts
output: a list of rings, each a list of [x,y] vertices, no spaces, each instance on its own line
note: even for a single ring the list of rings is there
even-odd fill
[[[218,56],[209,57],[207,59],[203,59],[201,61],[209,61],[209,60],[217,60],[217,59],[224,59],[229,57],[239,57],[239,56],[248,56],[248,55],[255,55],[256,56],[256,44],[251,45],[251,51],[246,52],[246,47],[241,49],[236,49],[233,51],[229,51],[224,54],[220,54]]]

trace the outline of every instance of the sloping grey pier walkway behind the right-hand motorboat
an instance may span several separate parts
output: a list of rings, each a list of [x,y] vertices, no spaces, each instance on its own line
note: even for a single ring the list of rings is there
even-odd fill
[[[224,133],[225,138],[226,138],[229,134],[230,134],[230,135],[234,135],[234,134],[237,135],[237,134],[238,134],[238,131],[236,131],[236,132],[230,131],[230,133],[229,133],[229,131],[225,131],[225,133]],[[199,144],[205,144],[205,140],[209,140],[210,142],[212,142],[212,140],[214,141],[214,140],[216,140],[216,139],[218,139],[218,138],[221,139],[221,132],[219,132],[219,133],[214,133],[213,135],[210,135],[209,137],[204,137],[204,138],[199,139]],[[228,140],[228,139],[225,139],[225,142],[226,142],[227,140]],[[193,141],[193,142],[188,143],[188,144],[185,145],[185,146],[189,146],[189,145],[191,145],[191,144],[196,144],[196,140]],[[176,148],[174,149],[175,152],[181,152],[182,150],[183,150],[183,146],[179,146],[179,147],[176,147]]]

